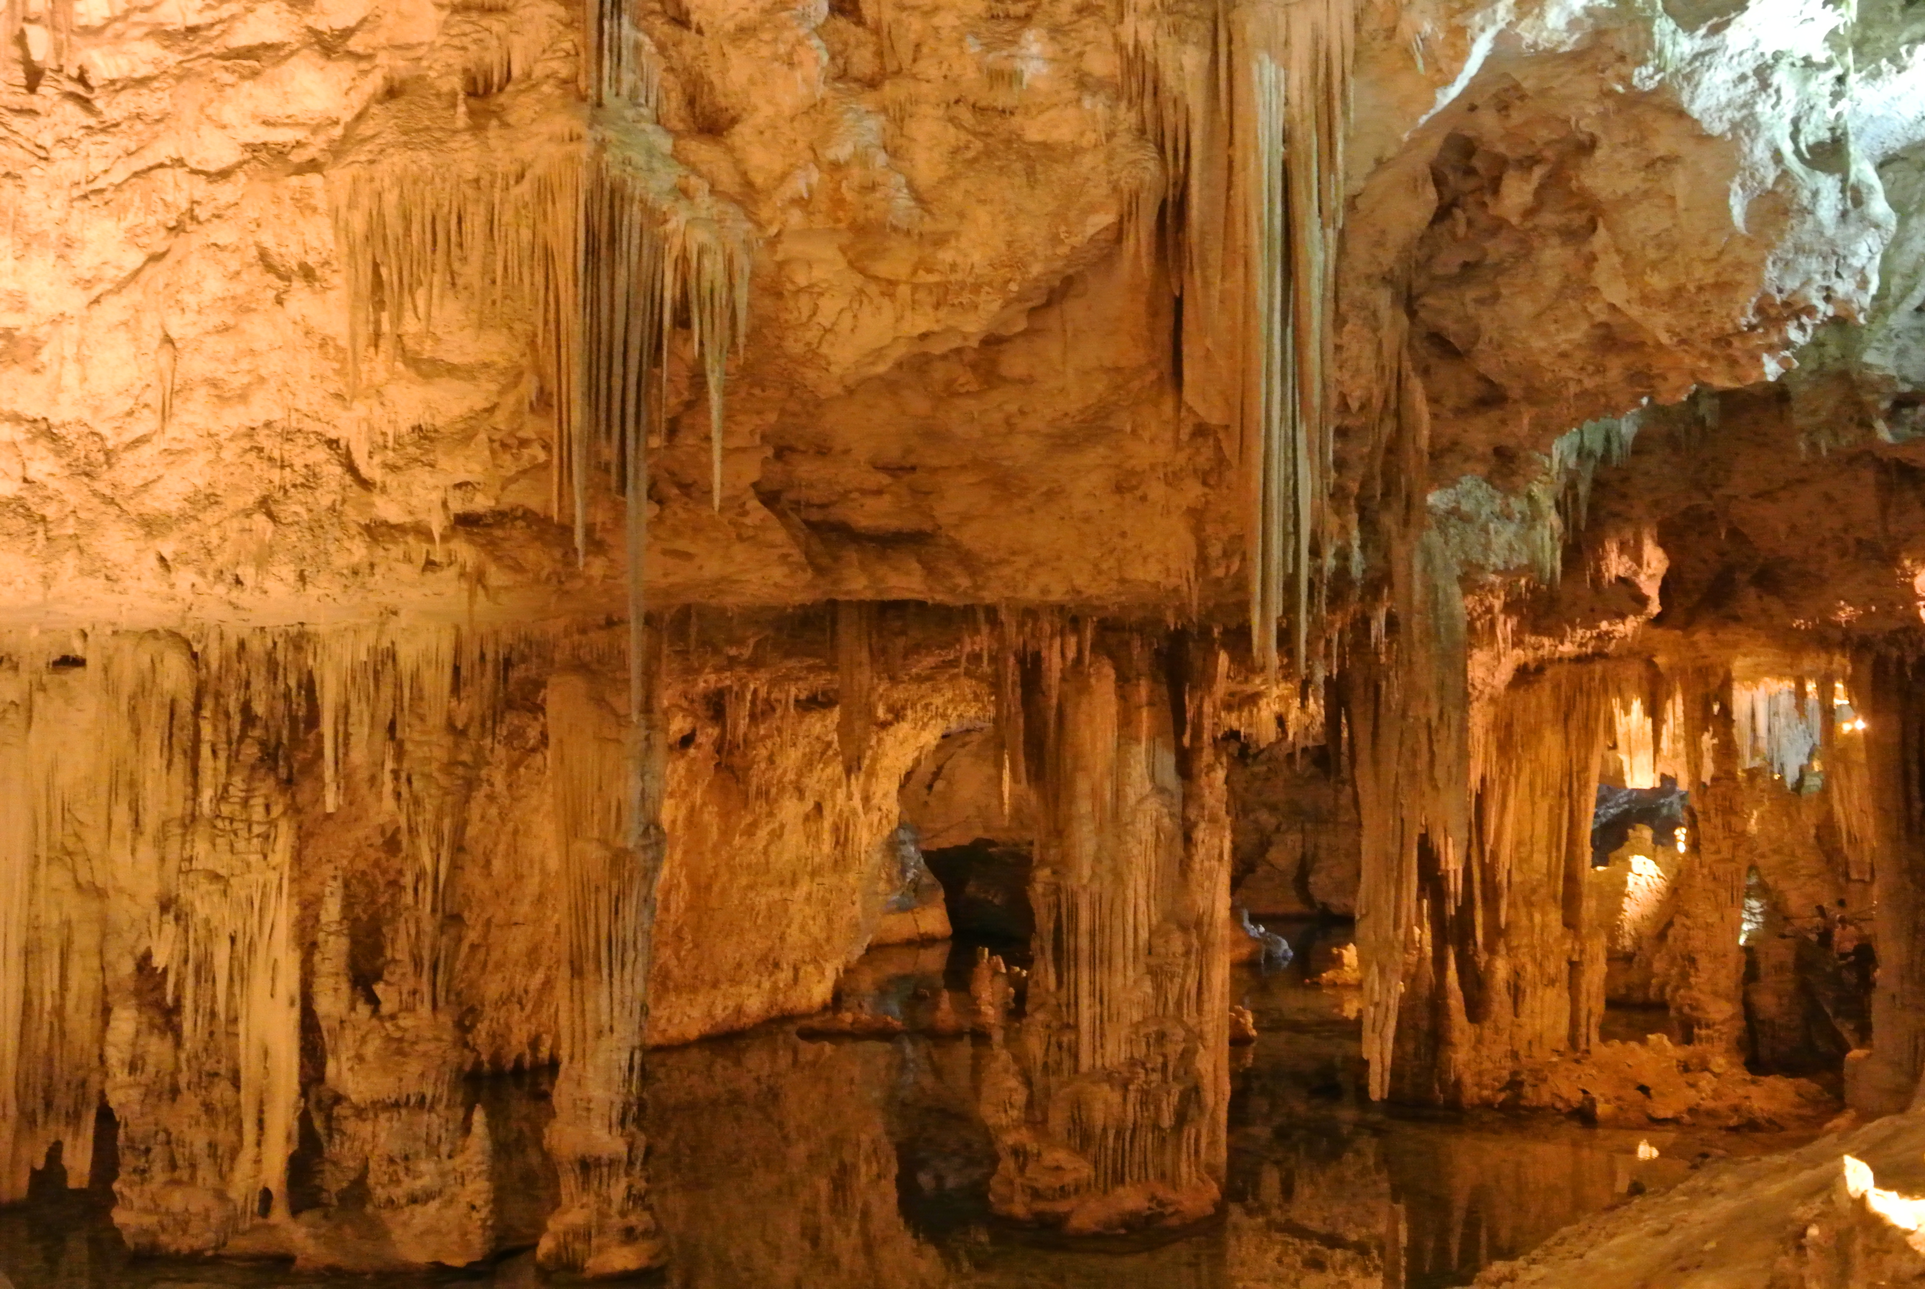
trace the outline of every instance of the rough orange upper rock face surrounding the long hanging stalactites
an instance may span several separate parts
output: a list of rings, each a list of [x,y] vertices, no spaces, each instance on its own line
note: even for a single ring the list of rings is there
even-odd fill
[[[0,287],[17,607],[314,618],[452,609],[475,588],[516,615],[616,597],[618,553],[591,543],[572,568],[551,526],[564,408],[529,356],[535,306],[427,291],[402,262],[381,285],[360,235],[397,195],[539,224],[533,197],[487,193],[579,146],[574,12],[21,13]],[[1869,164],[1917,133],[1890,106],[1912,69],[1900,52],[1848,83],[1827,13],[1363,10],[1346,407],[1374,403],[1388,283],[1451,424],[1442,480],[1503,472],[1505,453],[1646,397],[1756,381],[1815,322],[1865,314],[1894,224]],[[1159,39],[1182,44],[1170,21]],[[741,4],[635,25],[668,131],[651,166],[689,218],[733,212],[758,247],[720,513],[701,355],[670,355],[660,597],[1236,593],[1236,449],[1209,428],[1232,420],[1230,391],[1174,395],[1170,329],[1201,324],[1172,316],[1167,270],[1116,247],[1153,243],[1168,164],[1107,13]],[[1802,160],[1833,146],[1815,102],[1861,118],[1848,164]],[[1906,283],[1886,276],[1894,316]],[[389,299],[416,287],[431,314]],[[350,299],[370,289],[387,295]],[[1898,333],[1886,366],[1906,362]],[[1120,532],[1132,559],[1082,555]]]

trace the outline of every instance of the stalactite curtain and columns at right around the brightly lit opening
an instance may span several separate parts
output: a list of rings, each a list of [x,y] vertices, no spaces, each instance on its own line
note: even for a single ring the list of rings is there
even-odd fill
[[[1813,802],[1806,815],[1836,838],[1840,884],[1879,882],[1873,1006],[1896,1033],[1879,1031],[1856,1081],[1867,1104],[1915,1087],[1917,1042],[1898,1019],[1915,985],[1904,950],[1912,881],[1896,857],[1917,817],[1900,665],[1519,665],[1505,661],[1503,632],[1467,630],[1455,568],[1428,534],[1371,630],[1351,642],[1336,697],[1363,819],[1357,940],[1373,1094],[1494,1104],[1527,1069],[1592,1050],[1613,944],[1630,952],[1627,934],[1642,944],[1654,931],[1642,988],[1688,1044],[1744,1056],[1746,877],[1771,794]],[[1594,865],[1607,761],[1621,786],[1688,790],[1675,859]],[[1627,919],[1644,931],[1627,933]]]

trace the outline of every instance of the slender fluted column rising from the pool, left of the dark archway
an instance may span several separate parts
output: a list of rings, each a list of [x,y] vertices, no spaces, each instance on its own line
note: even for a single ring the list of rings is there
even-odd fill
[[[591,676],[549,680],[549,780],[562,863],[566,954],[562,1071],[549,1152],[562,1202],[541,1237],[543,1266],[618,1276],[656,1266],[662,1245],[647,1204],[641,1044],[649,936],[662,871],[660,794],[635,784],[631,724]],[[653,728],[653,723],[651,723]],[[651,755],[660,765],[658,755]]]

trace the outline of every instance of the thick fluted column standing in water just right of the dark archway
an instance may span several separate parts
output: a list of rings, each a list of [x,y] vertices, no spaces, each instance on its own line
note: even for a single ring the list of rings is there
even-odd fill
[[[1043,644],[1028,1015],[986,1079],[991,1204],[1072,1231],[1217,1206],[1228,1108],[1222,655]]]

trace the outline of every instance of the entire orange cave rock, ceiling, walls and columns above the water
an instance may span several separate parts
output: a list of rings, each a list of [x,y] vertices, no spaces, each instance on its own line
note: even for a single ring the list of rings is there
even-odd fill
[[[0,1198],[106,1104],[146,1250],[651,1266],[645,1048],[826,1006],[907,819],[1034,852],[995,1202],[1186,1220],[1232,871],[1355,913],[1378,1094],[1500,1100],[1600,1039],[1632,742],[1642,996],[1796,1048],[1746,875],[1871,888],[1902,1108],[1915,25],[8,6]],[[549,1065],[533,1223],[462,1079]]]

